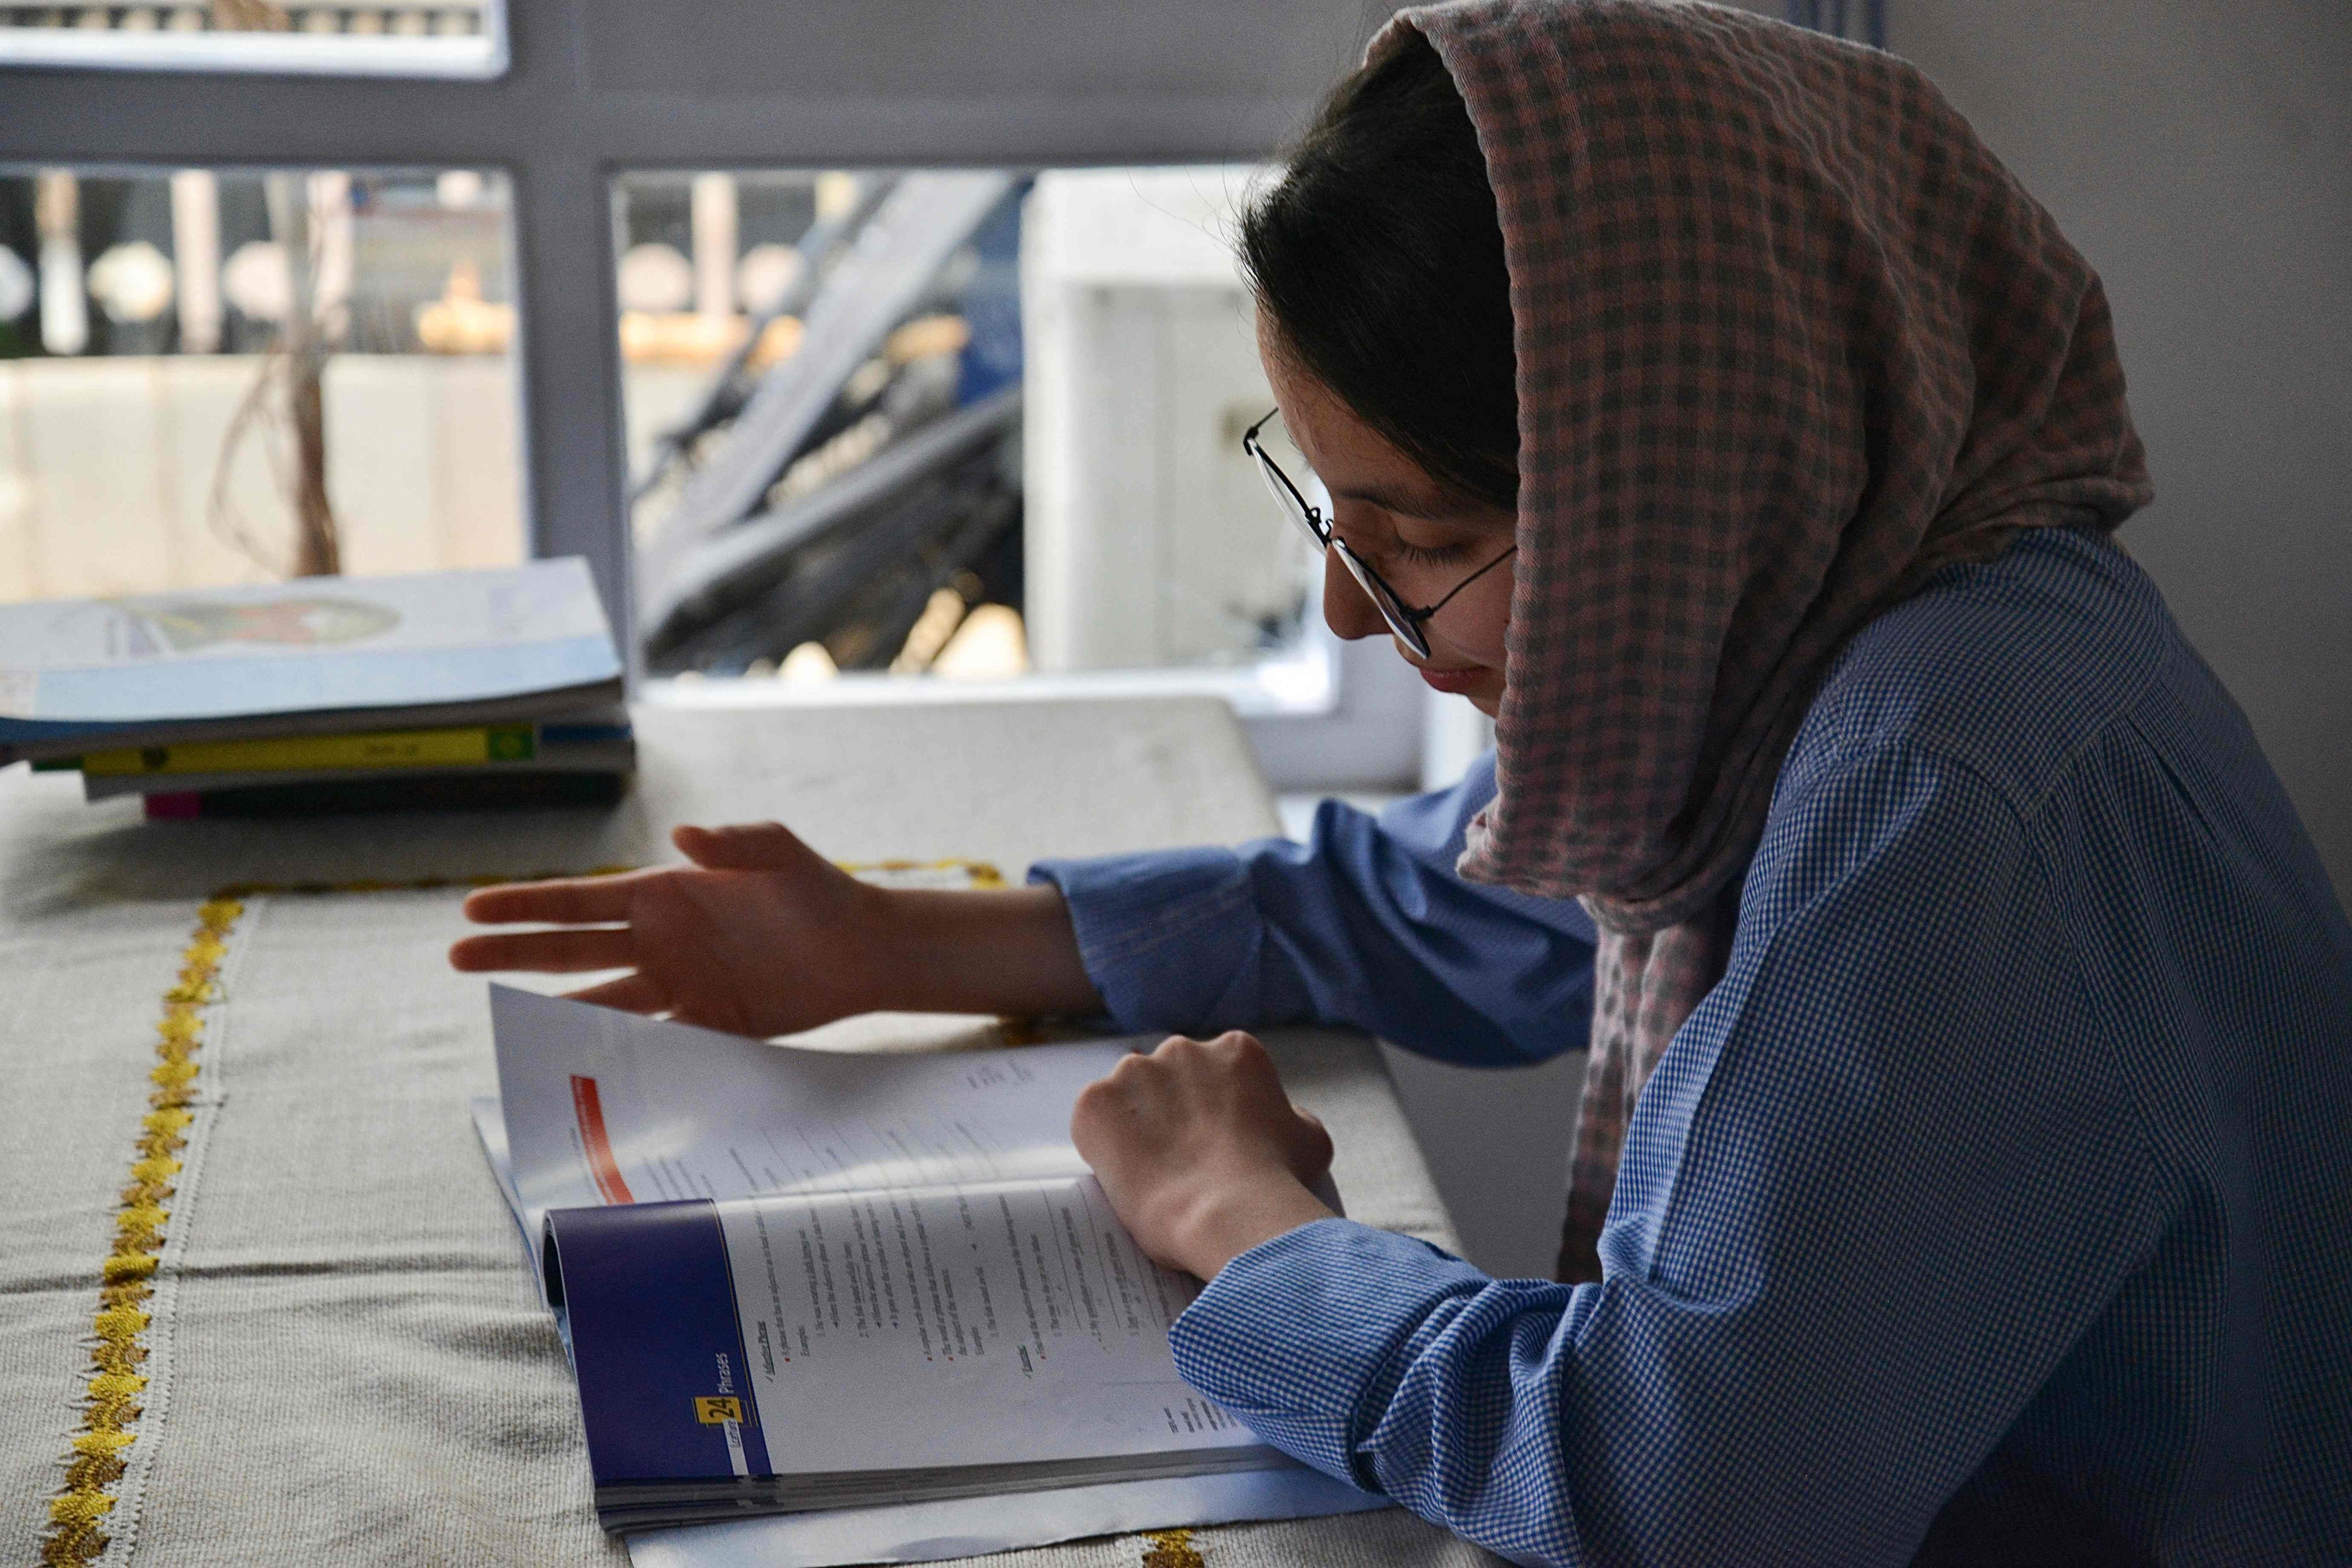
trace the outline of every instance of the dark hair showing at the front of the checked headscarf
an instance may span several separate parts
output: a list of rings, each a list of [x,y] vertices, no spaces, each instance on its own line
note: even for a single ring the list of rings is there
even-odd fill
[[[1430,477],[1519,494],[1510,275],[1486,158],[1418,33],[1341,82],[1242,216],[1275,336]]]

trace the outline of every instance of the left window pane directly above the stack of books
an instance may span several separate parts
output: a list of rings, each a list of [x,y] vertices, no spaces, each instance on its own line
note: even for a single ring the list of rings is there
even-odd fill
[[[0,172],[0,599],[522,557],[499,174]]]

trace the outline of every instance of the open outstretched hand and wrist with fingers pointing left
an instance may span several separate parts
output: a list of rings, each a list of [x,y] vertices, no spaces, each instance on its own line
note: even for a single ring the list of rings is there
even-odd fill
[[[461,971],[628,973],[574,992],[731,1034],[790,1034],[870,1011],[1089,1013],[1061,893],[889,891],[776,823],[677,827],[694,865],[482,889],[466,919],[555,931],[468,936]]]

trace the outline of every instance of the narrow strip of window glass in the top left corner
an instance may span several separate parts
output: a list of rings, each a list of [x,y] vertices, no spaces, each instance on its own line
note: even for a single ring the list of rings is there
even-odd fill
[[[489,78],[499,0],[0,5],[0,63]]]

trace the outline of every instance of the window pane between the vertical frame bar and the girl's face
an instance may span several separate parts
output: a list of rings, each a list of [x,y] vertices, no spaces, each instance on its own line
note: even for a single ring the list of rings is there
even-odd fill
[[[1256,176],[619,179],[647,668],[1305,658],[1317,562],[1242,451],[1272,407],[1230,249]]]

